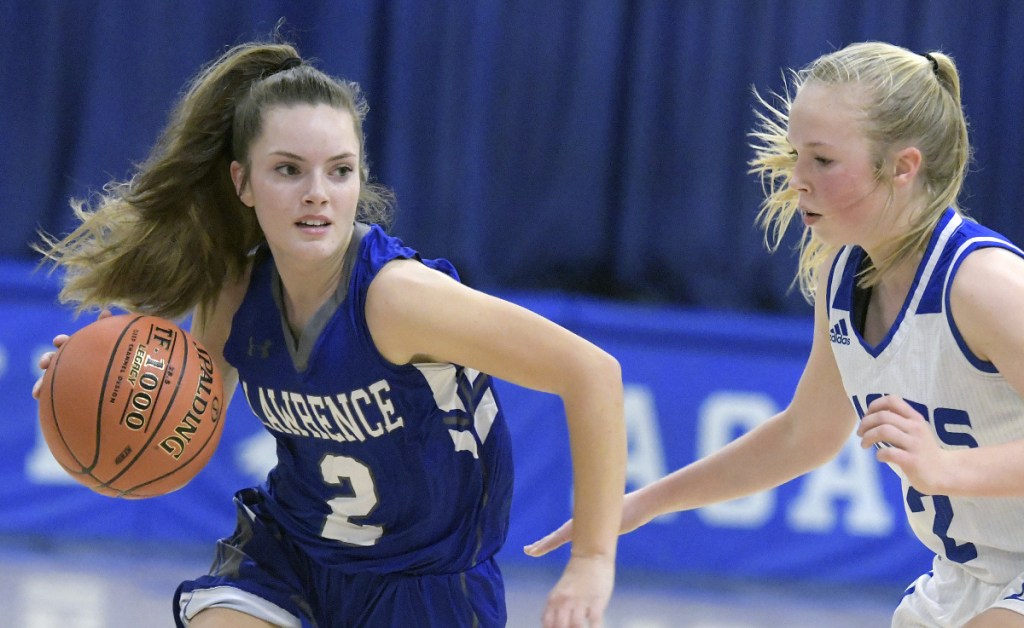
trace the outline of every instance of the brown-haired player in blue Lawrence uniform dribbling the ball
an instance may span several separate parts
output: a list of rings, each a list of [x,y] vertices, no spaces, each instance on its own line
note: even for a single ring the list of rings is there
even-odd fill
[[[81,307],[195,308],[225,392],[241,382],[276,439],[212,570],[178,588],[175,621],[505,625],[500,377],[560,395],[570,432],[578,538],[539,619],[599,626],[625,486],[618,364],[374,224],[388,203],[365,115],[356,85],[292,46],[237,46],[191,82],[136,175],[40,246]]]

